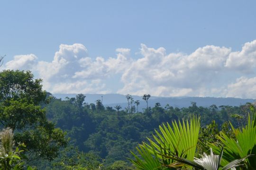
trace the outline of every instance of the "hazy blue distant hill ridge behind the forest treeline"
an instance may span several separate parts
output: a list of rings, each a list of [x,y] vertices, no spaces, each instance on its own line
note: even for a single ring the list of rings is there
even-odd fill
[[[56,98],[65,99],[65,97],[75,97],[77,94],[53,94]],[[85,102],[95,103],[96,100],[100,99],[102,96],[102,103],[105,106],[115,107],[120,105],[123,109],[127,107],[127,99],[125,95],[122,94],[84,94],[86,96]],[[139,110],[146,108],[146,102],[142,100],[141,96],[132,96],[134,101],[139,100]],[[209,107],[212,104],[217,106],[229,105],[229,106],[240,106],[246,104],[247,102],[255,102],[255,99],[240,99],[240,98],[216,98],[216,97],[156,97],[151,96],[148,100],[148,105],[154,107],[156,102],[159,102],[162,107],[169,104],[173,107],[183,108],[191,106],[191,102],[196,102],[197,106]]]

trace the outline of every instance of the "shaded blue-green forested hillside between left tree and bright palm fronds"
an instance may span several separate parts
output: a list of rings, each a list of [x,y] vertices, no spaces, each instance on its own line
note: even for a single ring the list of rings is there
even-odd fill
[[[115,161],[128,162],[127,158],[132,158],[130,151],[136,152],[137,144],[146,141],[146,137],[152,137],[154,130],[162,123],[197,115],[201,117],[202,127],[215,120],[215,129],[211,130],[218,131],[221,125],[227,126],[228,120],[235,127],[246,124],[248,113],[247,105],[232,107],[213,104],[205,108],[197,107],[195,102],[191,102],[188,108],[163,107],[161,103],[156,103],[155,107],[145,108],[143,112],[137,112],[136,107],[133,110],[129,110],[128,106],[119,108],[119,105],[115,108],[104,107],[100,99],[95,103],[86,103],[86,96],[78,94],[75,98],[64,100],[53,97],[46,106],[46,112],[47,118],[56,127],[67,132],[73,146],[77,146],[80,152],[99,156],[105,167]]]

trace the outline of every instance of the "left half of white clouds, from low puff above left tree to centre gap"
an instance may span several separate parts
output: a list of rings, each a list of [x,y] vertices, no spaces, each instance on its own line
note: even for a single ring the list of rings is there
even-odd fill
[[[9,69],[31,69],[51,93],[110,93],[104,80],[127,68],[129,49],[117,49],[117,57],[92,59],[82,44],[61,44],[52,62],[38,61],[34,54],[15,56]]]

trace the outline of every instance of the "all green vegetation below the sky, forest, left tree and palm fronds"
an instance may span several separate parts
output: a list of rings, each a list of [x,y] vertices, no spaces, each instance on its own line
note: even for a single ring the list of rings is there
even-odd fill
[[[256,167],[254,103],[198,107],[192,101],[177,108],[157,102],[138,111],[150,94],[126,97],[126,108],[88,103],[83,94],[57,99],[30,71],[0,72],[0,170],[203,170],[194,161],[209,154],[223,170]]]

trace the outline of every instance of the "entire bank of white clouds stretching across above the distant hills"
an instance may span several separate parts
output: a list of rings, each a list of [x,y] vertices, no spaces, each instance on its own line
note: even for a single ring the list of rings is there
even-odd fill
[[[135,59],[130,49],[119,48],[115,57],[93,58],[82,44],[61,44],[52,62],[17,55],[2,69],[32,70],[51,93],[256,98],[256,40],[241,51],[207,45],[167,54],[141,44],[139,53]]]

